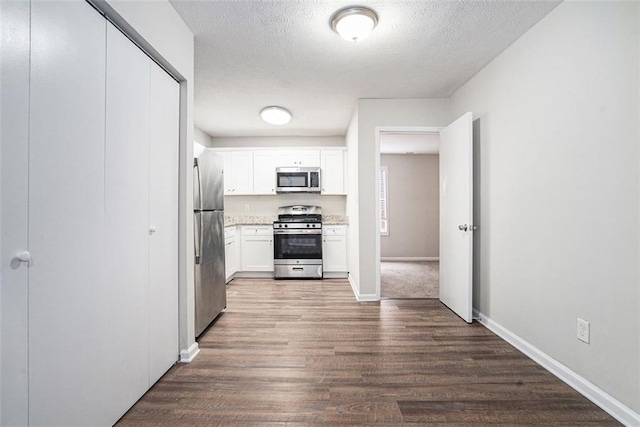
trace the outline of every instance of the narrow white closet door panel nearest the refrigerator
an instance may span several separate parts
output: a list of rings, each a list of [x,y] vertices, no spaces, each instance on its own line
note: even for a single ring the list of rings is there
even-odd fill
[[[178,360],[178,138],[180,86],[151,64],[149,375]]]

